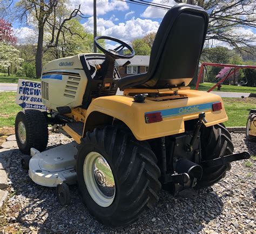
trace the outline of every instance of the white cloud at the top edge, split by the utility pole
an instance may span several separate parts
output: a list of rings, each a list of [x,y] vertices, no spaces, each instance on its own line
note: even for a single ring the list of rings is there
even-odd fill
[[[93,15],[93,0],[70,0],[69,7],[73,9],[74,6],[78,6],[79,4],[81,5],[81,12],[85,16]],[[104,15],[110,11],[125,11],[128,9],[129,6],[126,2],[97,0],[97,16]]]

